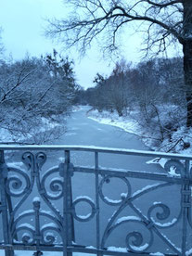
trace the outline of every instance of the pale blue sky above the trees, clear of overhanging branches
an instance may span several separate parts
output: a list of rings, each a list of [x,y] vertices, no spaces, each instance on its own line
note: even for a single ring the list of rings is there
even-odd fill
[[[62,0],[0,0],[0,27],[3,29],[1,35],[6,56],[11,54],[14,59],[21,59],[28,53],[31,57],[40,57],[52,53],[53,48],[59,52],[62,45],[45,38],[45,19],[64,18],[68,12]],[[141,40],[136,35],[124,37],[123,58],[138,62],[140,44]],[[62,55],[65,57],[69,53],[63,52]],[[77,56],[77,53],[69,55],[75,62],[77,81],[84,88],[93,86],[96,72],[108,75],[114,66],[110,60],[102,60],[96,45],[84,58]]]

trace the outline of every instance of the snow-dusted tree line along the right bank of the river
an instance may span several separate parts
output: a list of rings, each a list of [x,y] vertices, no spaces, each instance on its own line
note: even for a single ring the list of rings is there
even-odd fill
[[[80,102],[100,112],[130,115],[153,144],[171,142],[173,132],[186,125],[182,58],[153,58],[137,65],[122,59],[108,77],[97,73],[94,82],[94,88],[79,91]]]

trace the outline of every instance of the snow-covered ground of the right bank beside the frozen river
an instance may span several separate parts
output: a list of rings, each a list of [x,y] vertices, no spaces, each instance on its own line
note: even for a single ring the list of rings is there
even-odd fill
[[[87,117],[96,122],[120,127],[125,132],[138,135],[138,138],[141,139],[147,147],[155,151],[192,155],[192,147],[184,148],[184,143],[190,144],[191,142],[192,129],[186,130],[185,126],[181,126],[173,133],[172,142],[169,141],[169,138],[165,138],[159,145],[156,145],[155,139],[151,138],[151,134],[147,133],[147,130],[133,118],[134,114],[136,115],[137,113],[132,111],[127,116],[119,117],[118,113],[115,111],[111,113],[109,111],[98,112],[97,110],[89,110]]]

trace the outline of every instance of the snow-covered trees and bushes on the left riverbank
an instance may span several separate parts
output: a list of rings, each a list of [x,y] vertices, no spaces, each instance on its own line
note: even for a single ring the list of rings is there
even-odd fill
[[[66,130],[71,91],[50,74],[43,58],[26,58],[0,65],[0,129],[15,142],[43,143]],[[61,96],[62,95],[62,96]],[[62,101],[61,101],[62,98]],[[6,142],[7,142],[7,136]]]

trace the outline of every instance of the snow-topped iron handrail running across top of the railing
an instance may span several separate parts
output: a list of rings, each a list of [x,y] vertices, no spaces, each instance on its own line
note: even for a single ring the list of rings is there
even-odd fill
[[[70,150],[70,151],[88,151],[109,154],[121,154],[130,156],[143,156],[143,157],[158,157],[164,159],[179,159],[179,160],[192,160],[192,155],[182,155],[175,153],[164,153],[158,151],[125,149],[115,147],[96,147],[96,146],[81,146],[81,145],[0,145],[0,150]]]

